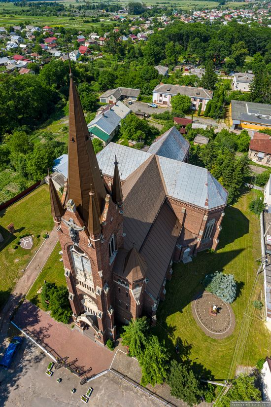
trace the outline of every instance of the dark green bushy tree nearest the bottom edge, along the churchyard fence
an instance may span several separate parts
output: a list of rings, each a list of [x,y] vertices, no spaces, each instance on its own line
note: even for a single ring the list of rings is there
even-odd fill
[[[200,390],[200,382],[190,367],[172,360],[167,383],[170,386],[172,396],[183,400],[189,406],[198,404],[202,391]]]

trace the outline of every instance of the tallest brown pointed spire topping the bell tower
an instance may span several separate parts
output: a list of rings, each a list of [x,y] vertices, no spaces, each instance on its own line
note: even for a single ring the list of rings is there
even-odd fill
[[[99,217],[106,195],[98,161],[72,74],[69,86],[68,199],[75,202],[78,213],[87,224],[89,190],[92,184]]]

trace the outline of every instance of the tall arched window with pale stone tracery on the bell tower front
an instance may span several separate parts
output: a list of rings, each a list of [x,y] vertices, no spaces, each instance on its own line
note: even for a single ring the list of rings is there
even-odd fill
[[[70,248],[72,265],[76,275],[76,286],[95,296],[90,259],[78,247]]]

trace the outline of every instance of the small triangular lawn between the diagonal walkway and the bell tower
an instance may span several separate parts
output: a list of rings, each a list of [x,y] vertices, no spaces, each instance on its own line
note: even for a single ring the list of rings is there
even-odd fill
[[[29,301],[33,302],[41,309],[43,309],[43,307],[40,302],[40,295],[37,294],[37,291],[44,284],[44,280],[49,283],[56,283],[57,286],[61,284],[66,285],[63,262],[59,261],[61,259],[61,255],[59,254],[60,251],[61,246],[58,242],[26,296]]]

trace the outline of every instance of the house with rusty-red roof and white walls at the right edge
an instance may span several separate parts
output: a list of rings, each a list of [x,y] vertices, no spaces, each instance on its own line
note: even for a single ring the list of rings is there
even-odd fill
[[[248,157],[254,162],[271,167],[271,136],[255,132],[249,143]]]

